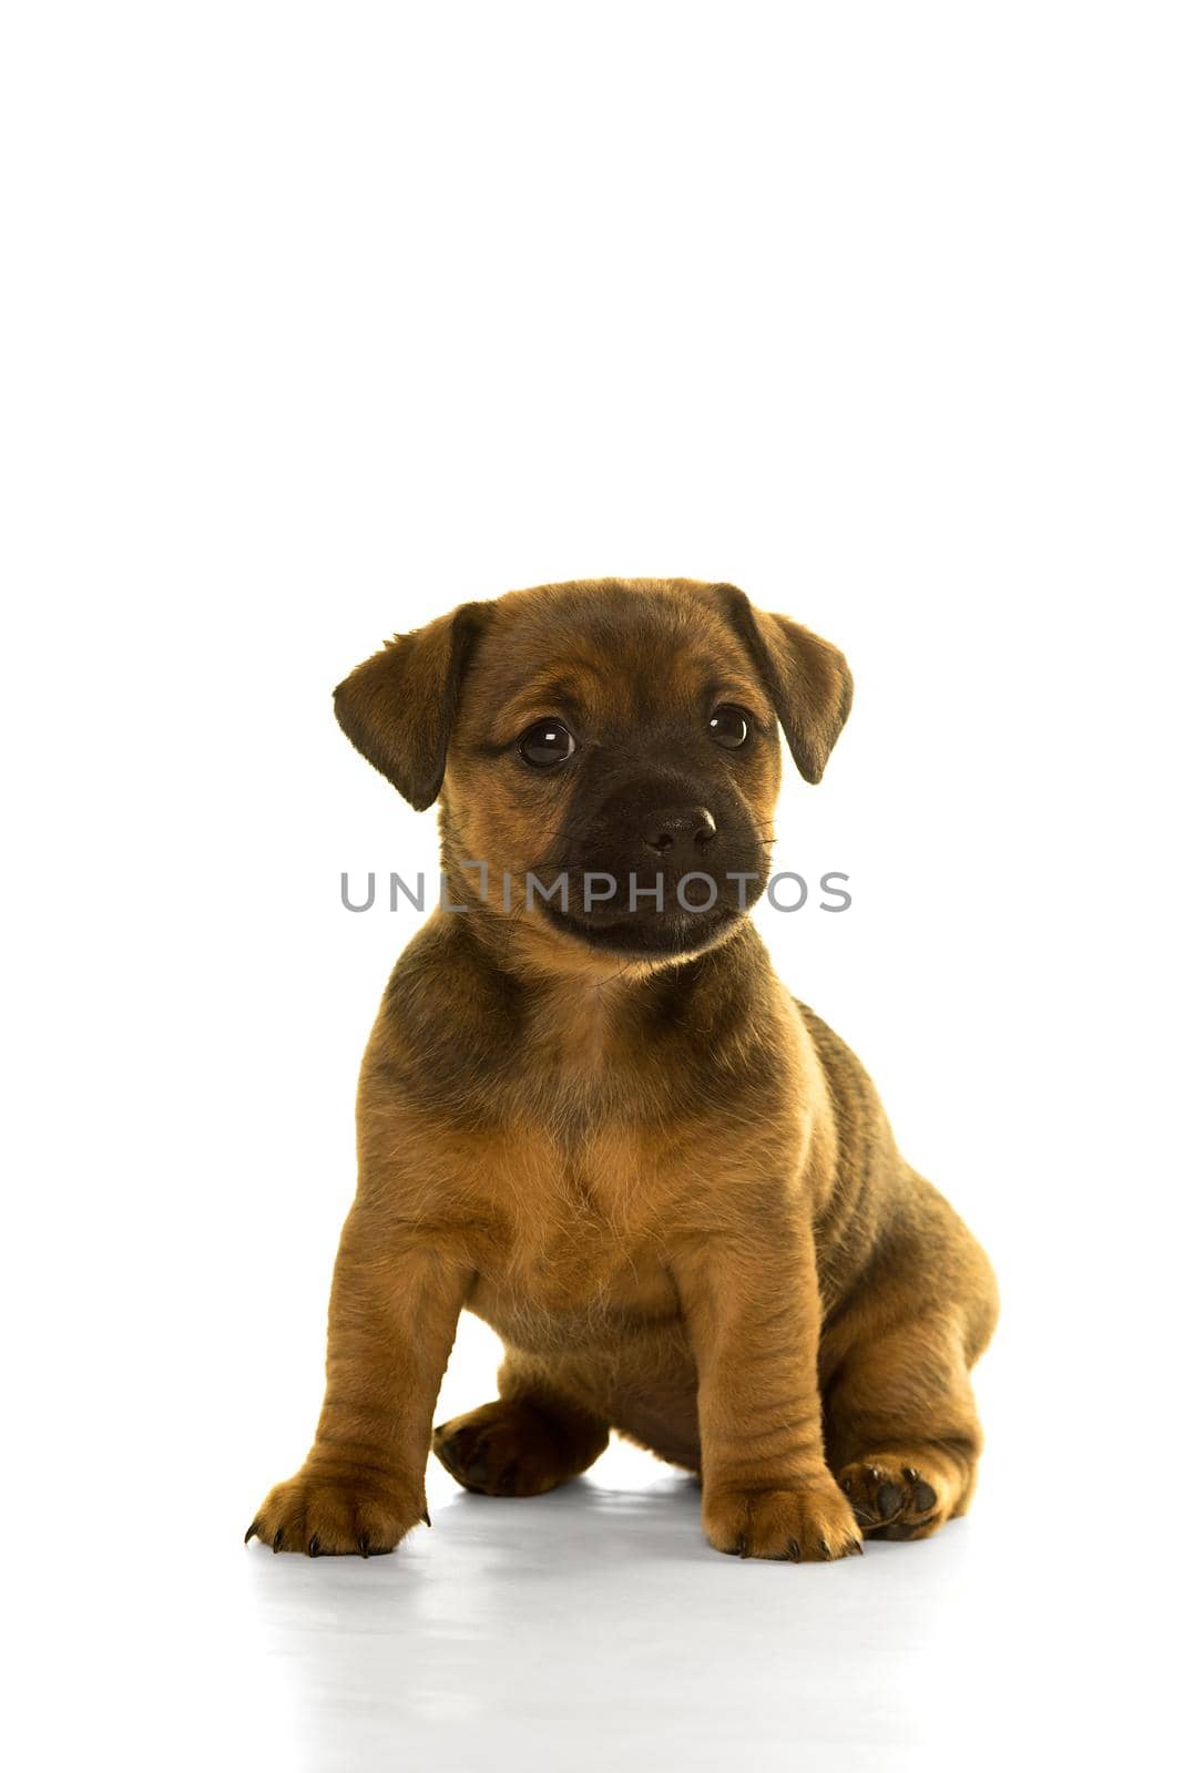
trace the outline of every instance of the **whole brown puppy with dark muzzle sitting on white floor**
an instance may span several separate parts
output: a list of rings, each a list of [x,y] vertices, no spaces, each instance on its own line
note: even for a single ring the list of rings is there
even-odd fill
[[[386,988],[315,1443],[248,1539],[365,1557],[425,1519],[464,1307],[507,1347],[502,1395],[434,1434],[468,1489],[539,1495],[615,1427],[702,1475],[741,1557],[966,1511],[991,1268],[743,915],[778,723],[817,782],[849,706],[835,647],[688,580],[464,605],[340,684],[358,750],[440,796],[468,910]]]

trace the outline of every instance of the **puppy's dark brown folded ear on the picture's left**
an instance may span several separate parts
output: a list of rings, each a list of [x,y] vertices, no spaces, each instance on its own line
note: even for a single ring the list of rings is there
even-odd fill
[[[386,640],[333,691],[342,732],[417,812],[436,800],[461,679],[487,605],[463,603],[427,628]]]

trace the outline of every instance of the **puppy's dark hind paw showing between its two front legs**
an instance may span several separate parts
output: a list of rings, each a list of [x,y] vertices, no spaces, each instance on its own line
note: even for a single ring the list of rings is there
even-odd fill
[[[567,1484],[608,1447],[608,1424],[507,1356],[502,1397],[441,1422],[432,1450],[457,1484],[486,1496],[541,1496]]]

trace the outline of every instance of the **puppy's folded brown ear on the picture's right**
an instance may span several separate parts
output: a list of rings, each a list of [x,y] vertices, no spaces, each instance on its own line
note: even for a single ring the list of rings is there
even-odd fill
[[[830,640],[785,615],[753,610],[736,585],[718,585],[732,628],[748,647],[789,750],[806,782],[821,782],[826,759],[851,713],[854,683],[847,661]]]

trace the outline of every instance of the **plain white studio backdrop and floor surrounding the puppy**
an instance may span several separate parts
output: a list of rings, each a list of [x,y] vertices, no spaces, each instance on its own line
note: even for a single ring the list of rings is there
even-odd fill
[[[1180,62],[1140,4],[5,11],[16,1764],[1163,1764]],[[975,1512],[759,1569],[615,1450],[245,1551],[413,927],[339,876],[432,863],[331,686],[599,573],[849,654],[778,860],[854,904],[764,931],[994,1257]]]

